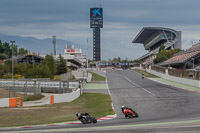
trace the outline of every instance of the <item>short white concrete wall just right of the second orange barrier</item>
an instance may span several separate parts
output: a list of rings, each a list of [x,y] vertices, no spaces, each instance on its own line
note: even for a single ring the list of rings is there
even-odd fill
[[[72,93],[53,94],[53,95],[54,95],[54,103],[71,102],[80,96],[80,89],[77,89]]]

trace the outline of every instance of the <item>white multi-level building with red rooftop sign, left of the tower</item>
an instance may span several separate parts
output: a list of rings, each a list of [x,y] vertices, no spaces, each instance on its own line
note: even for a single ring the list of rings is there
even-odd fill
[[[59,55],[56,56],[58,58]],[[74,45],[66,45],[64,55],[62,57],[67,60],[67,66],[72,69],[78,69],[86,65],[87,57],[82,54],[82,49],[75,49]]]

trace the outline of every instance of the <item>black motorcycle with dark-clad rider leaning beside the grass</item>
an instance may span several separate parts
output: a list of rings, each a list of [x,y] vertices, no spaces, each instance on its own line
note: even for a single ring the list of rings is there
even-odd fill
[[[97,123],[97,119],[89,115],[89,113],[76,113],[76,116],[83,124]]]

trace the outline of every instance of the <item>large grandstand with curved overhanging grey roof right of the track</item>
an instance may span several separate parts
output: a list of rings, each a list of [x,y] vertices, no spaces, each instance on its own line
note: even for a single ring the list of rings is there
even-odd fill
[[[148,50],[148,53],[138,58],[138,60],[143,65],[151,65],[161,45],[164,45],[166,50],[173,48],[181,49],[181,31],[164,27],[144,27],[132,43],[143,44],[144,49]]]

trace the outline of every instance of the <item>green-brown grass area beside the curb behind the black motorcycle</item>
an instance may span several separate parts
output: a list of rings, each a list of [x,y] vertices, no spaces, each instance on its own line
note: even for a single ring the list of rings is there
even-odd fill
[[[89,112],[96,118],[114,114],[109,95],[84,93],[70,103],[38,107],[0,108],[0,127],[73,121],[77,120],[76,112]]]

